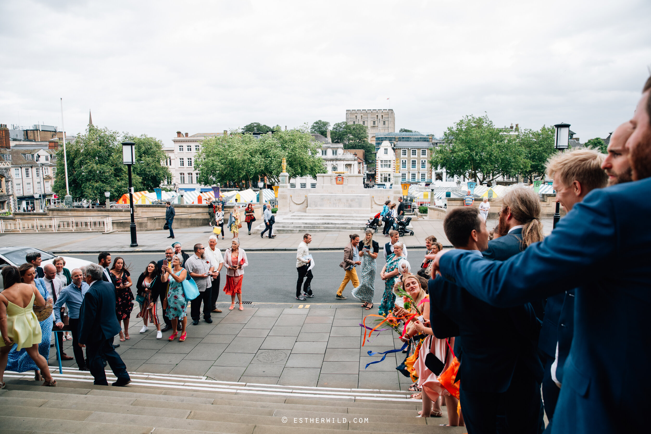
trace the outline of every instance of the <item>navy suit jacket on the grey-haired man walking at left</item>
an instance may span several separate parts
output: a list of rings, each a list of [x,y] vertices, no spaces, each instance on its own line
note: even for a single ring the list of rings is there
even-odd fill
[[[104,280],[96,280],[81,303],[79,344],[111,339],[120,329],[115,315],[115,286]]]

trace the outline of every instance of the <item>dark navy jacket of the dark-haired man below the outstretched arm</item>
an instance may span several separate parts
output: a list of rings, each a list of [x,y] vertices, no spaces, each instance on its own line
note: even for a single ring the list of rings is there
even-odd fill
[[[428,292],[434,336],[461,336],[464,357],[457,378],[464,382],[464,390],[506,392],[518,363],[538,383],[542,381],[537,353],[540,321],[529,303],[491,306],[441,277],[430,279]]]

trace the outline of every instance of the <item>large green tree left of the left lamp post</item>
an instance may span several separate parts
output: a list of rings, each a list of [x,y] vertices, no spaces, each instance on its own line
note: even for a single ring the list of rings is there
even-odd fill
[[[68,185],[73,198],[104,200],[104,192],[111,192],[117,200],[128,191],[126,166],[122,164],[122,144],[117,131],[89,125],[74,142],[66,143],[68,157]],[[156,162],[160,165],[160,161]],[[133,174],[133,185],[138,188],[141,178]],[[54,191],[66,195],[63,148],[57,152],[57,174]]]

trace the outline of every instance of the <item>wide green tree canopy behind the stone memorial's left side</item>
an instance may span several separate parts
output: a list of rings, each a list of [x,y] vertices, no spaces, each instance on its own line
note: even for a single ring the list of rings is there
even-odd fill
[[[283,157],[290,177],[326,172],[318,156],[320,144],[307,128],[275,131],[256,139],[251,134],[234,133],[210,137],[202,142],[195,159],[197,181],[203,185],[234,183],[239,187],[256,185],[260,177],[277,183]]]

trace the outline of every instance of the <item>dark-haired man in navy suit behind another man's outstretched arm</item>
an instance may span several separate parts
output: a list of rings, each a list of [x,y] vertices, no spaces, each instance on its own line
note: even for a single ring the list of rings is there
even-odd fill
[[[450,211],[443,228],[458,249],[479,258],[486,250],[488,230],[477,208]],[[441,277],[430,280],[428,290],[434,336],[461,337],[456,378],[468,433],[540,432],[540,321],[531,304],[497,308]]]

